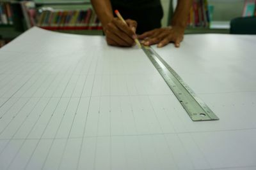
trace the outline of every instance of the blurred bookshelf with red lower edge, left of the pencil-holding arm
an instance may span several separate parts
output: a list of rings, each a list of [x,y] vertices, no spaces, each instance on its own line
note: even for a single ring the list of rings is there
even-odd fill
[[[26,9],[26,4],[22,8]],[[26,20],[30,20],[30,23],[27,22],[28,28],[36,25],[58,32],[102,34],[102,26],[90,1],[35,1],[33,6],[35,9],[32,10],[28,7],[30,16],[26,17],[24,13]],[[31,19],[31,15],[36,17]]]

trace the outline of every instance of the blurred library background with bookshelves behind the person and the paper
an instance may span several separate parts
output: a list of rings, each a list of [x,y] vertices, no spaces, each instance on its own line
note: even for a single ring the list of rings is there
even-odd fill
[[[163,27],[177,0],[161,0]],[[255,34],[256,0],[193,0],[186,34]],[[0,0],[0,48],[33,26],[72,34],[102,35],[90,0]]]

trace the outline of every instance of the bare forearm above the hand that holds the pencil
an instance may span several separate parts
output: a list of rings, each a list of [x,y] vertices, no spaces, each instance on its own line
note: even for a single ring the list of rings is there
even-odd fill
[[[103,27],[113,20],[113,10],[109,0],[91,0],[93,8]]]

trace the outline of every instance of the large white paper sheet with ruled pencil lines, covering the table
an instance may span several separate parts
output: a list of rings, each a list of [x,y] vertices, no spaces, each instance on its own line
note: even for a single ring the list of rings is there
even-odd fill
[[[220,117],[192,122],[142,50],[30,29],[0,50],[0,169],[256,169],[255,43],[156,49]]]

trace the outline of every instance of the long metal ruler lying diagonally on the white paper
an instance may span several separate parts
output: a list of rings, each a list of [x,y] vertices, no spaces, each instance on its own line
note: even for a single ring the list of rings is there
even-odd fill
[[[180,78],[179,74],[152,48],[142,46],[142,49],[193,121],[219,120],[204,101],[199,99],[195,92]]]

